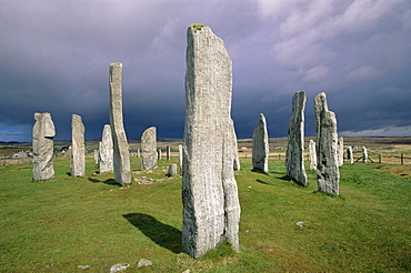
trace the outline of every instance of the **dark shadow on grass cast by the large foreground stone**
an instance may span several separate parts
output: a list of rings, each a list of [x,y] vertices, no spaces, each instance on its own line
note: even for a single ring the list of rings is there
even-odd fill
[[[144,213],[128,213],[122,215],[132,225],[158,245],[178,254],[181,252],[181,231],[163,224],[151,215]]]

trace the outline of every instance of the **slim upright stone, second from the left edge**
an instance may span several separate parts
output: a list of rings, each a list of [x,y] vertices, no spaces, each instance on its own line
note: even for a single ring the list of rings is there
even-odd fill
[[[71,115],[71,176],[86,175],[84,124],[78,114]]]

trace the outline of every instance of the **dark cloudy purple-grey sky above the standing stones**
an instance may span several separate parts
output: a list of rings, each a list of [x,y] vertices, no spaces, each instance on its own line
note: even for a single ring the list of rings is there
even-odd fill
[[[71,114],[86,139],[109,123],[108,67],[123,63],[124,127],[140,139],[182,138],[186,31],[209,26],[233,62],[232,118],[251,138],[264,113],[287,136],[294,92],[325,92],[341,135],[411,135],[409,0],[1,0],[0,140],[31,141],[34,112],[57,140]]]

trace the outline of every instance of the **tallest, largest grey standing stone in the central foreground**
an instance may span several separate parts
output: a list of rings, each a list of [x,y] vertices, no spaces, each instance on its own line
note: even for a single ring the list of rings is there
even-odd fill
[[[231,59],[209,27],[187,31],[182,249],[193,257],[229,241],[239,251],[240,203],[231,129]]]

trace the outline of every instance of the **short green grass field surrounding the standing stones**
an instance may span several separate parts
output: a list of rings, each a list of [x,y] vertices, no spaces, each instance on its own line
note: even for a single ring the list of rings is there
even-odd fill
[[[344,165],[340,196],[317,192],[315,173],[302,188],[287,180],[283,161],[270,173],[237,172],[241,203],[240,253],[228,244],[194,260],[181,253],[181,178],[121,188],[112,174],[71,178],[70,159],[54,161],[56,180],[32,182],[31,164],[0,168],[1,272],[404,272],[411,271],[411,179],[378,164]],[[295,225],[304,222],[303,228]],[[153,266],[136,269],[140,259]],[[50,265],[52,264],[52,265]]]

